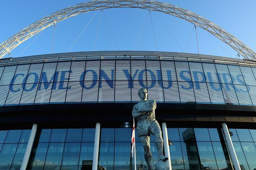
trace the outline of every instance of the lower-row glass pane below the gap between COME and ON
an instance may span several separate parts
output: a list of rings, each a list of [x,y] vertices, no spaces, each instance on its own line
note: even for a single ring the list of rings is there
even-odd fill
[[[69,82],[66,103],[81,103],[83,82]]]

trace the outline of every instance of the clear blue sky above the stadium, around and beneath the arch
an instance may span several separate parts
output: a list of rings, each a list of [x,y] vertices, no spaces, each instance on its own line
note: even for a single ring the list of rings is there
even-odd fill
[[[50,13],[83,2],[86,2],[86,0],[2,1],[0,10],[0,15],[2,16],[0,43]],[[162,2],[177,5],[203,16],[256,51],[255,0],[162,0]],[[95,13],[88,12],[58,23],[55,28],[54,42],[53,27],[47,28],[40,36],[37,37],[35,35],[14,49],[10,57],[50,54],[52,53],[52,42],[53,53],[68,52]],[[91,24],[89,24],[70,52],[118,49],[183,52],[187,49],[186,52],[188,53],[197,53],[195,30],[192,33],[194,25],[185,20],[159,12],[151,12],[156,37],[155,43],[150,15],[140,35],[148,14],[147,10],[106,9],[103,13],[97,12]],[[159,18],[164,22],[165,26]],[[100,27],[98,30],[99,21]],[[107,22],[109,22],[109,26]],[[138,39],[139,35],[140,38]],[[97,43],[95,45],[96,37]],[[197,37],[200,54],[234,58],[237,55],[237,52],[231,47],[214,36],[210,36],[209,33],[199,27],[197,27]],[[34,40],[35,38],[37,39]],[[190,43],[188,44],[189,39]],[[8,57],[8,55],[5,57]]]

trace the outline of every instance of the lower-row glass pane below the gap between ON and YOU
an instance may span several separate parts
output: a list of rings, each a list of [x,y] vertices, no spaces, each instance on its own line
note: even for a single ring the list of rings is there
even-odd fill
[[[115,102],[130,103],[131,102],[131,81],[116,81],[115,85]]]

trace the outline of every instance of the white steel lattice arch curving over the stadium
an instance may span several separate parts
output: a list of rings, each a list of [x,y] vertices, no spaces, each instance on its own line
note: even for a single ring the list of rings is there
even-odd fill
[[[166,14],[182,18],[216,36],[224,43],[231,46],[231,48],[237,51],[244,58],[256,60],[256,52],[254,52],[252,49],[246,46],[239,39],[232,36],[222,27],[219,27],[218,25],[201,17],[200,15],[197,15],[194,12],[190,12],[186,9],[182,9],[178,6],[174,6],[168,3],[162,3],[153,0],[94,0],[59,10],[50,15],[47,15],[41,20],[34,22],[28,27],[25,27],[24,29],[16,33],[14,36],[10,37],[9,39],[6,39],[3,43],[1,43],[0,58],[3,58],[4,55],[10,53],[14,48],[19,46],[19,44],[23,43],[25,40],[31,38],[35,34],[46,29],[47,27],[50,27],[53,24],[56,24],[66,18],[80,15],[85,12],[108,8],[140,8],[164,12]]]

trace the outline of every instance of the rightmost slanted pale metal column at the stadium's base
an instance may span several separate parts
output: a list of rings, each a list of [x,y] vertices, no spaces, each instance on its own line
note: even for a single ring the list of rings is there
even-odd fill
[[[234,150],[234,146],[233,146],[231,137],[229,135],[227,124],[222,123],[222,128],[223,128],[223,131],[224,131],[225,138],[227,140],[228,150],[229,150],[230,155],[231,155],[231,159],[232,159],[232,162],[233,162],[233,165],[234,165],[234,169],[235,170],[241,170],[239,162],[237,160],[237,155],[236,155],[236,152]]]

